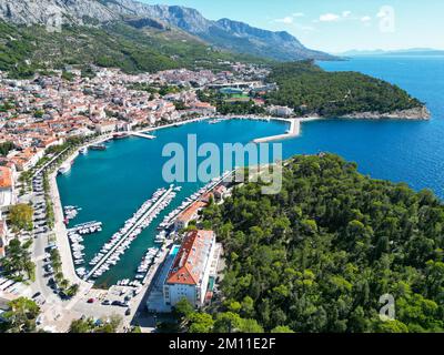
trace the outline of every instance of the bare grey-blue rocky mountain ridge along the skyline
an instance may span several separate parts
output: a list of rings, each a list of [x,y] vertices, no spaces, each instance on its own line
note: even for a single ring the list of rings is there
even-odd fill
[[[0,19],[16,24],[47,24],[60,18],[63,23],[74,24],[124,20],[135,28],[174,27],[222,49],[275,60],[334,59],[305,48],[287,32],[262,30],[230,19],[211,21],[184,7],[133,0],[0,0]]]

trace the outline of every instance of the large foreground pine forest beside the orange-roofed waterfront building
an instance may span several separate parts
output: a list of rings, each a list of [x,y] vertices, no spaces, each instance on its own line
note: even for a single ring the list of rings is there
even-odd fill
[[[444,331],[444,205],[430,191],[372,180],[336,155],[296,156],[279,194],[245,184],[204,220],[228,265],[218,329],[249,320],[266,332]],[[384,294],[395,321],[379,317]]]

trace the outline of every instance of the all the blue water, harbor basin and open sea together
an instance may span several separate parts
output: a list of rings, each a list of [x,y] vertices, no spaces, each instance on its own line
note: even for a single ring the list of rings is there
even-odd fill
[[[428,187],[444,197],[444,58],[360,58],[325,62],[326,70],[361,71],[407,90],[427,103],[432,120],[423,121],[346,121],[326,120],[304,123],[302,135],[283,142],[284,158],[299,153],[329,151],[359,163],[360,171],[376,179],[407,182],[413,189]],[[196,134],[198,143],[246,143],[255,138],[283,133],[281,122],[228,121],[219,124],[191,123],[160,130],[158,139],[131,138],[108,143],[105,152],[79,156],[69,174],[59,176],[63,205],[83,210],[73,224],[103,222],[103,231],[85,237],[87,260],[91,258],[122,223],[161,186],[163,146],[179,142],[186,146],[186,135]],[[203,183],[186,183],[169,213],[181,199]],[[162,214],[158,222],[163,219]],[[133,243],[121,262],[98,280],[112,284],[133,277],[145,250],[153,245],[153,223]]]

